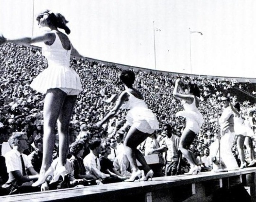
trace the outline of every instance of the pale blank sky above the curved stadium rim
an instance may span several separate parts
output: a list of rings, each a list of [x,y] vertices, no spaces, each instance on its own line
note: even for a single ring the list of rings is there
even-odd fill
[[[256,78],[255,0],[0,0],[0,33],[36,35],[33,17],[44,9],[69,20],[72,44],[86,57]]]

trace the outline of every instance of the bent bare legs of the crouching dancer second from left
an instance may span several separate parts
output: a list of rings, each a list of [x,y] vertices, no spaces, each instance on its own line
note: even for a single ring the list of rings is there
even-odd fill
[[[146,140],[149,136],[148,133],[140,132],[136,127],[131,126],[124,140],[124,148],[126,156],[130,162],[132,170],[136,172],[138,170],[136,158],[144,167],[145,171],[148,172],[150,167],[147,165],[143,154],[137,149],[137,146]]]

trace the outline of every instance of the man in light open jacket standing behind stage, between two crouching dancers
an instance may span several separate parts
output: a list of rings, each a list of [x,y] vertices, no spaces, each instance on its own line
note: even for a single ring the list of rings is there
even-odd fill
[[[179,143],[180,138],[173,133],[172,126],[170,124],[164,125],[165,132],[165,147],[168,149],[166,151],[166,161],[165,161],[165,176],[175,176],[177,175],[177,167],[179,162]]]

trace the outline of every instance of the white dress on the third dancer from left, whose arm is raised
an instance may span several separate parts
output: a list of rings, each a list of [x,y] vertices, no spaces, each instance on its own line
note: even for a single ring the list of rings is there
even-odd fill
[[[183,102],[185,110],[177,112],[176,116],[182,116],[186,118],[186,128],[197,134],[200,132],[201,126],[203,124],[203,116],[196,107],[195,99],[196,98],[194,97],[194,100],[190,105]]]

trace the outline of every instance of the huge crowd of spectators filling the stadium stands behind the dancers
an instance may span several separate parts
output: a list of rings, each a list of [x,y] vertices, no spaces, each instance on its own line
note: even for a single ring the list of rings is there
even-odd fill
[[[26,183],[27,188],[31,181],[37,179],[39,173],[43,152],[42,107],[44,95],[29,87],[33,78],[42,69],[46,68],[46,59],[38,54],[39,52],[40,50],[33,47],[19,46],[17,48],[17,45],[14,44],[0,46],[0,160],[7,167],[7,169],[0,170],[0,194],[25,192],[27,189],[19,189],[20,184]],[[42,191],[120,182],[130,176],[128,159],[122,145],[125,134],[119,132],[119,129],[125,123],[125,120],[121,117],[124,117],[123,114],[127,113],[126,110],[121,109],[110,123],[103,125],[102,130],[98,131],[93,127],[110,111],[116,97],[121,92],[121,89],[116,87],[118,85],[113,83],[113,81],[119,80],[121,69],[115,65],[105,65],[96,61],[77,60],[75,58],[72,59],[71,66],[81,78],[83,91],[77,99],[70,122],[70,154],[66,163],[68,173],[64,173],[64,179],[59,179],[56,182],[49,175],[46,184],[41,187]],[[143,143],[144,145],[140,145],[140,149],[142,152],[147,152],[147,155],[161,153],[168,167],[165,164],[161,165],[160,170],[155,172],[158,173],[158,176],[182,174],[186,172],[186,162],[181,163],[183,171],[177,172],[176,170],[180,159],[184,161],[182,155],[177,151],[177,156],[173,157],[171,155],[171,157],[168,153],[168,149],[173,147],[171,145],[172,141],[175,141],[175,145],[178,144],[178,138],[185,126],[184,119],[175,116],[175,113],[182,108],[173,96],[175,77],[171,74],[147,73],[144,70],[137,70],[136,74],[136,87],[143,93],[146,104],[156,114],[160,125],[160,130],[149,137]],[[219,132],[216,122],[211,120],[216,118],[216,114],[221,114],[221,109],[216,107],[220,96],[223,94],[221,89],[232,88],[238,82],[236,79],[217,79],[190,75],[181,77],[183,83],[196,83],[201,90],[202,102],[199,111],[206,121],[190,149],[196,156],[200,157],[198,159],[202,170],[209,171],[212,164],[209,148],[212,142],[218,138]],[[232,98],[232,95],[230,97]],[[254,107],[254,105],[251,104],[250,107]],[[246,111],[242,113],[246,113]],[[256,121],[255,116],[254,121]],[[169,126],[166,126],[166,124]],[[164,129],[165,127],[170,128],[171,133],[175,135],[175,140]],[[17,135],[13,135],[17,132],[21,134],[18,138]],[[27,141],[27,148],[24,146],[25,149],[23,148],[21,152],[22,156],[26,158],[27,167],[26,165],[25,167],[27,172],[31,171],[31,166],[33,170],[32,174],[26,174],[28,177],[23,178],[21,177],[22,173],[19,173],[19,175],[12,174],[12,177],[23,180],[22,183],[16,183],[13,186],[12,183],[9,183],[11,185],[8,184],[10,173],[13,170],[11,170],[11,165],[8,165],[9,161],[6,161],[5,157],[8,157],[9,152],[13,149],[17,149],[20,146],[19,142],[22,141]],[[253,144],[255,146],[255,142]],[[147,149],[145,149],[145,145],[149,145]],[[57,149],[58,134],[56,132],[55,151]],[[233,151],[236,155],[236,143]],[[247,158],[247,152],[245,152],[245,155]],[[57,152],[54,152],[53,170],[56,167],[56,158],[58,158]],[[237,160],[239,161],[239,159]],[[173,161],[175,163],[172,163]],[[174,170],[172,170],[173,168]],[[9,177],[7,177],[8,173]],[[28,188],[28,190],[34,191],[37,189]]]

